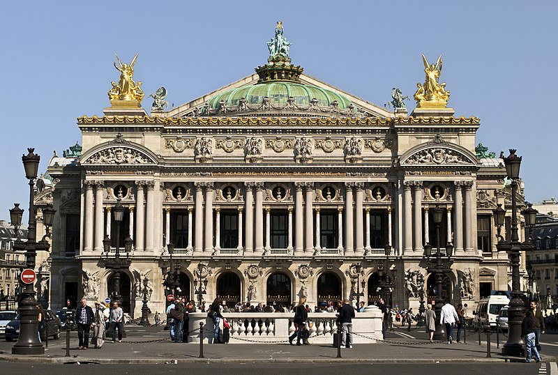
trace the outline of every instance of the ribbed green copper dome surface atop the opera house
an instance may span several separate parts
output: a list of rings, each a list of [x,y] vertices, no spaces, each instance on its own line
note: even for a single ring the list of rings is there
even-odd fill
[[[339,109],[347,109],[351,104],[345,96],[333,91],[294,82],[264,82],[242,86],[211,98],[208,104],[211,109],[218,109],[220,102],[225,100],[227,107],[238,107],[240,100],[246,98],[248,105],[261,105],[264,97],[269,98],[271,105],[286,105],[289,97],[294,98],[296,105],[303,106],[310,105],[314,98],[320,107],[329,107],[333,101],[338,103]]]

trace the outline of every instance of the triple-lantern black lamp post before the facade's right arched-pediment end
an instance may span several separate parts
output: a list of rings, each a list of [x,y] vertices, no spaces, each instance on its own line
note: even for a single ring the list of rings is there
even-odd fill
[[[436,330],[434,331],[434,339],[444,341],[446,339],[446,328],[440,323],[440,316],[442,315],[442,306],[444,305],[444,297],[442,296],[442,288],[444,284],[444,275],[446,272],[451,272],[448,266],[445,266],[442,262],[442,249],[440,247],[440,223],[442,222],[442,217],[444,215],[444,209],[436,206],[432,209],[432,217],[434,219],[434,224],[436,225],[436,261],[435,263],[430,263],[430,257],[432,257],[432,245],[424,245],[424,254],[428,260],[428,272],[432,273],[436,278],[436,305],[434,311],[436,312]],[[453,245],[448,243],[446,245],[446,256],[448,260],[453,254]]]

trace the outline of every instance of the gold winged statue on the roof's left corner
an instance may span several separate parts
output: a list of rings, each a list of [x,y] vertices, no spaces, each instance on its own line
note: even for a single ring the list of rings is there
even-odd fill
[[[112,89],[108,92],[110,102],[113,107],[140,107],[145,94],[140,87],[142,82],[138,81],[136,84],[133,79],[137,54],[129,65],[122,63],[118,55],[115,56],[119,65],[117,66],[114,61],[114,68],[120,72],[120,78],[117,84],[114,81],[111,82]]]

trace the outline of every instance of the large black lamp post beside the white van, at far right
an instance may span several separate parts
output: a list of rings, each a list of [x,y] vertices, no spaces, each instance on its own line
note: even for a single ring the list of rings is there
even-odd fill
[[[523,312],[525,311],[525,304],[523,302],[523,292],[521,291],[520,275],[519,275],[519,262],[520,252],[533,250],[533,244],[530,241],[525,243],[519,242],[518,235],[518,179],[519,169],[521,166],[521,156],[515,155],[514,149],[510,149],[510,155],[505,158],[504,152],[500,154],[500,158],[504,159],[506,164],[506,174],[511,180],[511,236],[509,241],[505,241],[500,235],[502,225],[506,217],[506,211],[501,207],[497,207],[492,211],[494,214],[494,222],[498,230],[498,243],[496,248],[498,251],[507,252],[511,262],[511,301],[508,309],[508,325],[509,334],[508,341],[502,347],[502,354],[504,355],[523,355],[523,339],[521,337],[521,322],[523,319]],[[532,208],[531,208],[532,209]],[[536,210],[527,212],[525,215],[525,224],[531,228],[536,222]]]

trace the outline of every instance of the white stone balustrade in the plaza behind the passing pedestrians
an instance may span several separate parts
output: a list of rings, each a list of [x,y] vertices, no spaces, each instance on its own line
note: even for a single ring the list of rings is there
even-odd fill
[[[294,323],[292,323],[294,313],[225,312],[223,316],[231,326],[229,330],[231,344],[288,342],[289,336],[294,332]],[[199,343],[199,323],[204,323],[204,342],[213,342],[213,320],[203,312],[191,313],[188,317],[188,331],[197,330],[189,335],[188,342]],[[337,331],[336,320],[335,313],[308,314],[312,344],[333,344],[333,333]],[[382,312],[376,306],[368,306],[364,312],[357,312],[352,323],[354,343],[370,344],[376,342],[376,339],[382,339]],[[223,321],[221,321],[221,328],[223,328]]]

